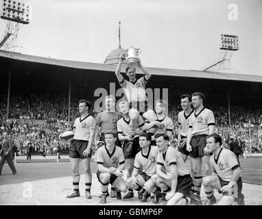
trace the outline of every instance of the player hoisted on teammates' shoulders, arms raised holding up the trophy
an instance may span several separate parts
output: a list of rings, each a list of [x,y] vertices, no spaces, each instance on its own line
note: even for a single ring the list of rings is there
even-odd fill
[[[125,53],[121,53],[119,57],[119,64],[115,70],[115,75],[117,76],[120,86],[123,88],[126,94],[128,103],[130,103],[130,127],[133,127],[136,123],[136,119],[139,117],[139,114],[141,114],[143,118],[150,121],[155,117],[152,107],[150,107],[150,105],[147,103],[147,96],[145,94],[145,83],[147,83],[147,81],[150,79],[151,74],[150,71],[145,68],[139,60],[138,67],[143,70],[145,75],[139,79],[136,79],[136,68],[133,66],[128,66],[126,68],[126,75],[128,75],[129,80],[124,79],[121,75],[121,65],[125,59]]]

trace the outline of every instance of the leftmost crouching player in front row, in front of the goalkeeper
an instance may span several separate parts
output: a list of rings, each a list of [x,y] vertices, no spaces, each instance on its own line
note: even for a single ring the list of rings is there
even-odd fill
[[[97,179],[102,184],[101,204],[106,203],[108,184],[113,185],[117,190],[117,199],[121,199],[121,192],[127,192],[126,183],[123,180],[125,159],[123,151],[115,145],[117,133],[105,132],[106,145],[97,150]]]

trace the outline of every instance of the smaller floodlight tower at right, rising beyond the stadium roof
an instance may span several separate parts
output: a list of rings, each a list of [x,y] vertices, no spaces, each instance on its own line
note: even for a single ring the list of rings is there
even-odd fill
[[[234,51],[239,50],[239,40],[238,36],[221,34],[221,53],[219,57],[219,61],[215,64],[205,68],[206,70],[222,70],[222,71],[230,71],[230,58],[232,57]]]

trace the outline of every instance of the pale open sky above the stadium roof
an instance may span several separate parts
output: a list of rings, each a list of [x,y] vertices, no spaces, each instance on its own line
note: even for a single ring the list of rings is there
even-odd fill
[[[2,1],[2,0],[1,0]],[[239,36],[235,73],[262,76],[261,0],[27,0],[32,22],[19,31],[28,55],[104,63],[121,46],[141,48],[147,67],[202,70],[219,60],[220,34]],[[228,5],[237,4],[230,21]],[[0,19],[0,36],[5,31]]]

